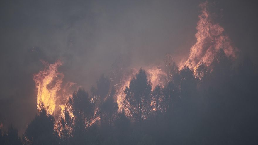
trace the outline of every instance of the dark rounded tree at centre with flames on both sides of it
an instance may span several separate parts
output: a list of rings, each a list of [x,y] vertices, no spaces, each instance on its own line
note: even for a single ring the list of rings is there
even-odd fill
[[[140,69],[136,77],[131,79],[129,87],[125,88],[126,107],[131,117],[139,123],[150,113],[151,82],[147,79],[145,70]]]

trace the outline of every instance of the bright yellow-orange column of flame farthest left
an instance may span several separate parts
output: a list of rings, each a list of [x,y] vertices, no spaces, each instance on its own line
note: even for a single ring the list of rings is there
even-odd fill
[[[57,91],[60,90],[64,78],[64,74],[57,71],[62,62],[57,60],[54,64],[43,63],[46,64],[44,70],[33,76],[38,90],[37,108],[40,111],[43,107],[52,115],[56,109]]]

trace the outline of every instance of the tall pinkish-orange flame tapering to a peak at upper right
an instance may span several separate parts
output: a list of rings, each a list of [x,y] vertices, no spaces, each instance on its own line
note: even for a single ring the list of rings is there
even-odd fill
[[[230,38],[223,34],[224,28],[213,23],[207,5],[207,1],[199,5],[201,14],[198,16],[199,21],[196,27],[198,30],[195,34],[197,42],[191,47],[189,58],[180,68],[186,65],[196,69],[201,61],[210,66],[215,54],[220,49],[224,50],[227,57],[236,57],[237,48],[233,47]]]

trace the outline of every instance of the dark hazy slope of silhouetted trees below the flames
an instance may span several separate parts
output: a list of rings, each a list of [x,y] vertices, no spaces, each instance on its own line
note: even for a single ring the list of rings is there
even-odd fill
[[[235,64],[221,49],[209,67],[168,63],[165,86],[153,90],[140,69],[124,90],[122,111],[101,75],[97,87],[73,93],[57,126],[42,109],[21,137],[10,126],[0,144],[258,144],[257,69],[241,58]]]

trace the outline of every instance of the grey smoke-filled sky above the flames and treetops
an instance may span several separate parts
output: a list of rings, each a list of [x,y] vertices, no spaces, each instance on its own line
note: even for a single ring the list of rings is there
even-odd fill
[[[89,90],[119,56],[127,67],[157,64],[166,53],[177,61],[187,58],[201,2],[1,1],[0,123],[23,132],[34,117],[32,76],[44,68],[40,60],[62,60],[64,79]],[[257,60],[257,4],[209,3],[232,43]]]

